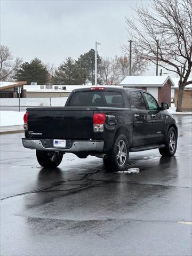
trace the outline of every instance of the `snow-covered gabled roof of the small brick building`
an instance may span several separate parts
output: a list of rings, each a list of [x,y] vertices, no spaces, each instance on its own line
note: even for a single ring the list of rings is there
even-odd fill
[[[163,87],[167,81],[170,81],[171,86],[174,86],[172,78],[169,76],[127,76],[123,79],[120,85],[137,87],[137,86],[151,86]]]

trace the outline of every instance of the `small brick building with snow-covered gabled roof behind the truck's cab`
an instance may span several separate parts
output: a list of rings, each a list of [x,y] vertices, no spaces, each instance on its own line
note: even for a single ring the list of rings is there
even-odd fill
[[[174,83],[169,76],[127,76],[119,85],[146,90],[159,103],[167,102],[171,106],[171,86]]]

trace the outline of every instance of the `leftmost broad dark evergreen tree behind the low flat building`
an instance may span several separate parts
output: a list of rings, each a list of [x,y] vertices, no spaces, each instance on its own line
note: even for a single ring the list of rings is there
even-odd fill
[[[21,67],[16,71],[14,78],[17,81],[27,81],[27,84],[31,82],[45,84],[49,80],[49,73],[43,62],[35,58],[30,62],[22,63]]]

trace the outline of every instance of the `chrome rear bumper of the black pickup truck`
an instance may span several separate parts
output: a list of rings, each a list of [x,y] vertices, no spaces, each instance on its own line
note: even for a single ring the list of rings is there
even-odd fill
[[[64,152],[81,152],[81,151],[98,151],[102,152],[104,141],[74,141],[70,148],[46,148],[41,140],[22,139],[23,147],[44,151],[64,151]]]

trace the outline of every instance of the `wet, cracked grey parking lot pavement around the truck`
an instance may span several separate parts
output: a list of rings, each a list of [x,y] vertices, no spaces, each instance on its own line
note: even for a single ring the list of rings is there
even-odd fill
[[[131,153],[137,174],[73,154],[41,168],[1,135],[1,255],[191,255],[191,116],[176,119],[175,157]]]

